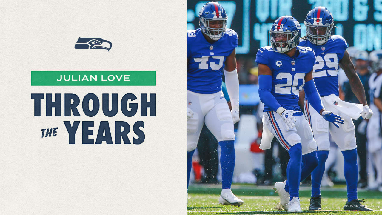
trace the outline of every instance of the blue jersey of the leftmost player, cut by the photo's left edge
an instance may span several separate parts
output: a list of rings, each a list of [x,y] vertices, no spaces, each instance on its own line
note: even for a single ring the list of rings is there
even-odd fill
[[[238,46],[238,35],[232,29],[216,42],[209,43],[199,29],[187,31],[187,90],[212,94],[222,86],[225,59]]]

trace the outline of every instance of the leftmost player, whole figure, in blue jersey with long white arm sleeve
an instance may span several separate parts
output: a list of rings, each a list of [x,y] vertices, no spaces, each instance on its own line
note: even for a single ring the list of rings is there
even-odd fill
[[[187,31],[187,188],[191,160],[205,123],[219,142],[222,192],[219,203],[240,206],[243,200],[231,191],[235,167],[233,124],[239,121],[239,79],[235,48],[238,35],[227,29],[227,14],[217,2],[199,12],[200,28]],[[222,93],[222,75],[232,111]]]

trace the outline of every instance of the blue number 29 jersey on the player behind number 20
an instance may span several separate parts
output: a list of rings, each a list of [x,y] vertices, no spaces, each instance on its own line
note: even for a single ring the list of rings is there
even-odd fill
[[[313,78],[320,96],[338,96],[338,63],[348,48],[345,39],[339,35],[332,35],[324,45],[316,46],[308,38],[304,38],[300,40],[299,46],[311,47],[316,53]]]

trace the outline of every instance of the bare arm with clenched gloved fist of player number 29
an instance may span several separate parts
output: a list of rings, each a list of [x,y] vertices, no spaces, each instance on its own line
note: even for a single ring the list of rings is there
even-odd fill
[[[354,68],[353,62],[351,62],[350,60],[350,56],[347,50],[345,50],[345,53],[343,54],[339,65],[349,79],[351,91],[353,91],[354,95],[356,95],[358,101],[364,105],[363,111],[361,112],[361,116],[364,119],[370,119],[370,117],[373,115],[373,112],[367,105],[365,89],[361,83],[361,80],[359,80],[359,77],[356,73],[356,69]]]

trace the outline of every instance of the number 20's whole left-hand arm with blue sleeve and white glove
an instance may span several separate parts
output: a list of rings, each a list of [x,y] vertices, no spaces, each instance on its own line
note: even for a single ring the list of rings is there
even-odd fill
[[[272,70],[267,65],[259,64],[259,97],[262,103],[270,109],[276,111],[283,118],[286,129],[292,129],[295,126],[296,119],[291,111],[283,108],[272,95]]]

